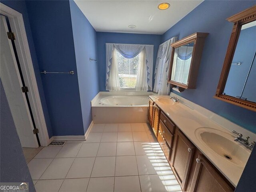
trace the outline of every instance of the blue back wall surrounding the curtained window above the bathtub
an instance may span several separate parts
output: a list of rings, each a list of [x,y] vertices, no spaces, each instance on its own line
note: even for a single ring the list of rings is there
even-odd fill
[[[97,32],[97,49],[98,49],[98,75],[100,83],[100,91],[106,91],[106,43],[126,43],[126,44],[150,44],[154,45],[154,66],[156,64],[156,56],[158,46],[160,45],[161,35],[149,34],[130,34],[130,33],[108,33]],[[154,78],[154,75],[153,75]],[[153,80],[154,85],[154,80]]]

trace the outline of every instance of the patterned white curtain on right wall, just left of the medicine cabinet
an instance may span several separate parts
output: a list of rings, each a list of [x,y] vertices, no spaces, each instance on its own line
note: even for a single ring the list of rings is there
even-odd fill
[[[177,37],[173,37],[166,42],[160,44],[155,68],[155,84],[154,92],[158,95],[169,95],[170,94],[170,84],[168,84],[168,74],[169,74],[169,62],[171,54],[171,44],[177,41]]]

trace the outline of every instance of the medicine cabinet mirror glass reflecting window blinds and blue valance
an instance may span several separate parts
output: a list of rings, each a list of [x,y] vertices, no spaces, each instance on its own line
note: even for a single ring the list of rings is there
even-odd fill
[[[194,42],[175,48],[171,80],[188,84]]]

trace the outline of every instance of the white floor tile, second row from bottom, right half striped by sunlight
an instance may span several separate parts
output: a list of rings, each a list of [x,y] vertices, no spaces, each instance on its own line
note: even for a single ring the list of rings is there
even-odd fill
[[[158,162],[154,156],[136,156],[139,175],[161,174]]]

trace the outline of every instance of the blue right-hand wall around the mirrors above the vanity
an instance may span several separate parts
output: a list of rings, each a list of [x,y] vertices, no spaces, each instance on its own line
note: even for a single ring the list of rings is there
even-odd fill
[[[196,89],[173,92],[256,133],[256,112],[213,98],[233,27],[226,18],[253,5],[255,1],[204,1],[164,33],[162,42],[194,32],[210,33],[204,44]]]

